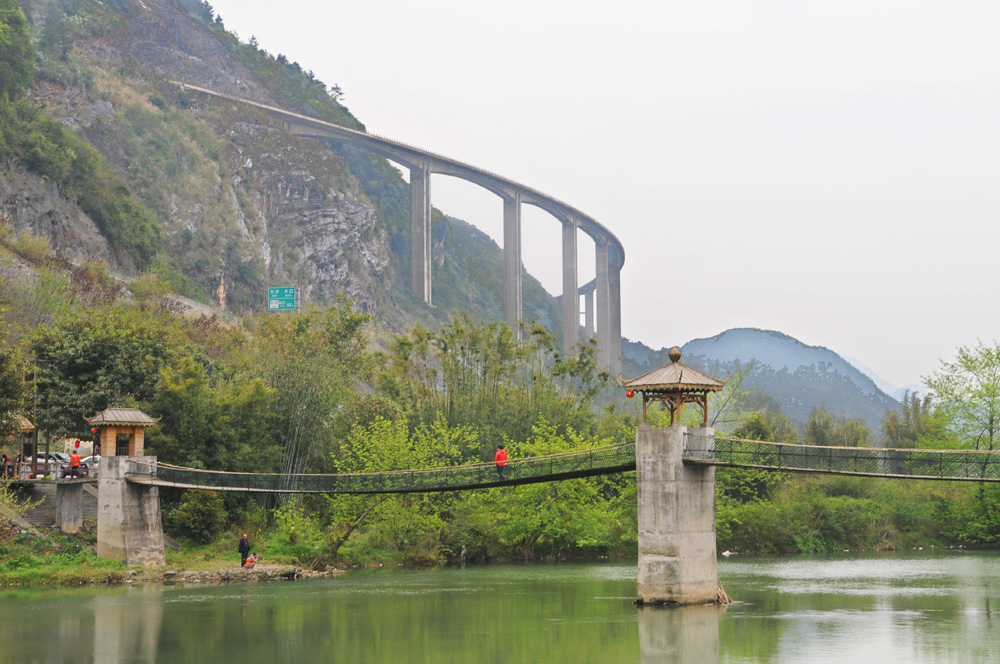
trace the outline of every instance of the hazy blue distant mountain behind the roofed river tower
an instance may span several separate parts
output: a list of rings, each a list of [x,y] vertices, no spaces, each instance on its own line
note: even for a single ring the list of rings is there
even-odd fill
[[[624,376],[640,376],[670,362],[669,349],[654,351],[641,343],[622,344]],[[807,346],[787,334],[772,330],[736,328],[708,339],[695,339],[681,347],[681,362],[725,377],[737,363],[755,362],[748,384],[775,399],[786,415],[809,420],[813,408],[834,415],[864,420],[877,433],[887,409],[899,402],[885,393],[868,375],[843,357],[822,346]]]

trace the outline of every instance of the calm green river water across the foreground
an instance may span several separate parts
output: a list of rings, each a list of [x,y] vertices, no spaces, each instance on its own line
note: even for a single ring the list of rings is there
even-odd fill
[[[0,593],[8,662],[997,662],[1000,555],[730,558],[726,608],[636,609],[634,562]]]

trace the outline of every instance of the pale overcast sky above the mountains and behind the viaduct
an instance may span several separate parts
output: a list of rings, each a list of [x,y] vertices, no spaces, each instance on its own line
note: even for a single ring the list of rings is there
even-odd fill
[[[1000,338],[1000,3],[212,5],[370,132],[609,228],[629,339],[779,330],[902,386]],[[431,198],[502,245],[500,199],[442,175]],[[526,206],[522,242],[560,293],[558,222]],[[581,235],[581,283],[593,256]]]

